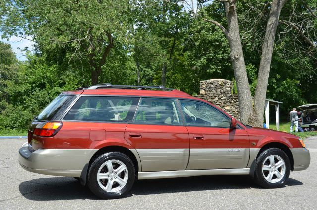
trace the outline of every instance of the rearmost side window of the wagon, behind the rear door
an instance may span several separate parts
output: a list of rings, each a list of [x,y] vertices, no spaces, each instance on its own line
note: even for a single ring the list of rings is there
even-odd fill
[[[131,122],[139,98],[82,96],[64,120]]]

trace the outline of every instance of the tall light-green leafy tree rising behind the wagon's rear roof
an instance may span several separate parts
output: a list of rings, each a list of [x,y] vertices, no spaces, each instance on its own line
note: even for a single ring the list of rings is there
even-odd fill
[[[97,84],[115,41],[127,38],[130,0],[4,0],[3,36],[32,37],[40,52],[65,49]]]

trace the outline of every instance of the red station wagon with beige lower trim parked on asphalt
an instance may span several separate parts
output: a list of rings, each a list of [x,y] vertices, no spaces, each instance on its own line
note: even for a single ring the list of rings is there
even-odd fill
[[[243,174],[276,188],[310,154],[297,136],[244,125],[179,90],[99,84],[63,92],[34,118],[19,162],[110,199],[136,179]]]

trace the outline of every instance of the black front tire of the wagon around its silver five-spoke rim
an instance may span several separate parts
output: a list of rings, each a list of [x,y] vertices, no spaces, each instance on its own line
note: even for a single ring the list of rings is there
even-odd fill
[[[275,182],[275,183],[269,182],[263,175],[264,173],[267,173],[267,177],[268,177],[268,175],[269,175],[268,173],[270,173],[270,171],[265,171],[265,172],[262,171],[262,166],[264,165],[264,163],[265,163],[265,165],[267,165],[267,164],[269,164],[267,161],[270,161],[270,160],[266,160],[266,158],[268,158],[271,155],[277,155],[278,157],[282,158],[284,163],[285,163],[285,169],[284,169],[285,173],[284,173],[283,177],[278,182]],[[274,158],[274,160],[277,160],[276,157]],[[270,167],[270,169],[271,168],[272,168],[272,172],[273,172],[274,167]],[[278,170],[282,170],[282,169],[278,168]],[[279,187],[282,187],[283,184],[285,183],[285,181],[288,179],[290,172],[291,172],[291,163],[290,163],[290,160],[289,160],[287,154],[281,149],[270,148],[270,149],[264,150],[256,159],[254,179],[258,185],[260,185],[264,188],[279,188]],[[273,173],[275,173],[275,172],[273,172]],[[276,175],[273,175],[273,178],[274,177],[277,181],[278,177]],[[272,178],[272,180],[273,180],[273,178]]]

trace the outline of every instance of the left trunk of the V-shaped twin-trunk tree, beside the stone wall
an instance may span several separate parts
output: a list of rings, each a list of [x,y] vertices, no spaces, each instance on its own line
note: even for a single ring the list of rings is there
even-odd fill
[[[228,23],[226,36],[230,45],[230,58],[237,82],[240,121],[247,123],[252,113],[252,98],[240,40],[238,15],[234,3],[226,2],[225,10]]]

